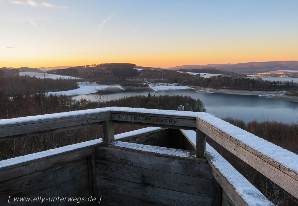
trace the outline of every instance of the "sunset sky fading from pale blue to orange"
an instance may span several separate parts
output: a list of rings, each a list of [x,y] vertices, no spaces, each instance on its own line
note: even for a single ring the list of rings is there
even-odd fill
[[[297,0],[0,0],[0,67],[298,60],[297,9]]]

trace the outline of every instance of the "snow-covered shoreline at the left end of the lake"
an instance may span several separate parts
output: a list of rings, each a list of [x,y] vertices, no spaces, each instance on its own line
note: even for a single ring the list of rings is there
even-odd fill
[[[57,94],[57,95],[66,95],[66,96],[72,96],[72,95],[78,95],[78,94],[92,94],[96,93],[97,90],[124,90],[121,86],[118,85],[98,85],[95,82],[78,82],[77,83],[80,88],[74,89],[74,90],[68,90],[68,91],[62,91],[62,92],[49,92],[48,94]]]

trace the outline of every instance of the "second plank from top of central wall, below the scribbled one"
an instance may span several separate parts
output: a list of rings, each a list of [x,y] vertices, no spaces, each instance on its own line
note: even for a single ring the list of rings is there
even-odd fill
[[[187,171],[185,171],[187,173]],[[117,163],[96,161],[96,174],[151,187],[210,197],[212,180]]]

